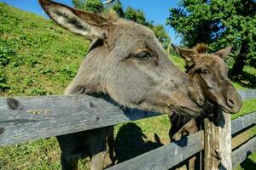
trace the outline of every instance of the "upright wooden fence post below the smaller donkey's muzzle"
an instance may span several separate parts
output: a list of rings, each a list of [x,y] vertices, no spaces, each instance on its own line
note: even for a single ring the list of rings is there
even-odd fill
[[[205,132],[205,170],[231,170],[231,120],[230,114],[220,108],[213,111],[213,116],[204,120]]]

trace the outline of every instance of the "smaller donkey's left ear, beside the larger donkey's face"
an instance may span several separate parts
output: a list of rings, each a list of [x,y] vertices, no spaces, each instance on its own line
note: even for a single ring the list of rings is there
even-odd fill
[[[195,54],[196,54],[194,49],[179,48],[174,44],[172,44],[172,48],[175,49],[177,54],[179,54],[180,56],[182,56],[183,59],[185,59],[187,66],[193,65]]]

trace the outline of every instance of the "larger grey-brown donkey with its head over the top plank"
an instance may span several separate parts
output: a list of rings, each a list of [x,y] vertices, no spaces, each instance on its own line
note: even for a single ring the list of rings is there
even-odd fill
[[[146,111],[198,116],[204,98],[188,75],[178,70],[146,26],[39,0],[49,17],[68,31],[91,40],[90,51],[65,94],[108,95],[119,105]],[[57,137],[62,169],[77,169],[90,156],[102,169],[111,127]]]

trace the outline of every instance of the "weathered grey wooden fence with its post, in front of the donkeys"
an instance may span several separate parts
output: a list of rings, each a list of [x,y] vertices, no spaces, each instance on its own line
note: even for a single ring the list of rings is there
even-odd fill
[[[239,93],[242,99],[256,98],[256,90]],[[0,146],[160,115],[138,110],[123,111],[104,99],[88,95],[0,98]],[[204,155],[201,169],[231,169],[256,150],[256,137],[231,150],[231,135],[253,127],[256,112],[230,122],[230,115],[220,111],[214,120],[206,119],[204,124],[204,131],[108,167],[108,170],[165,170],[198,152]]]

